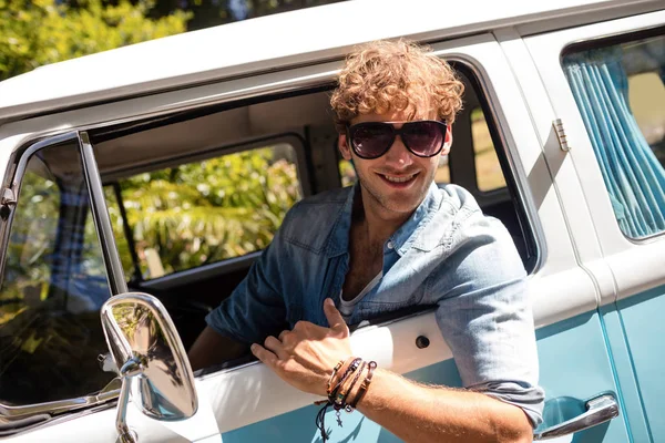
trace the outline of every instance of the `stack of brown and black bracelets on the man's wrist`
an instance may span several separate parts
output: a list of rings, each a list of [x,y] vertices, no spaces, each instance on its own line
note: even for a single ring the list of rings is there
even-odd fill
[[[341,410],[352,412],[356,409],[358,402],[362,399],[371,383],[371,378],[374,377],[376,368],[377,363],[375,361],[368,363],[357,357],[349,357],[346,361],[340,360],[339,363],[332,368],[332,373],[330,374],[326,389],[328,400],[315,402],[315,404],[325,403],[316,415],[316,426],[321,432],[324,443],[328,440],[328,432],[326,431],[324,423],[328,406],[335,409],[337,425],[341,426]],[[340,373],[342,369],[344,371]],[[358,384],[362,374],[365,374],[365,379]]]

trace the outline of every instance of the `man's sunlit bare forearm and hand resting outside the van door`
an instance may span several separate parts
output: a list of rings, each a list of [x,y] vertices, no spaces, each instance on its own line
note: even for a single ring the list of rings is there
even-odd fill
[[[349,330],[332,300],[324,311],[329,329],[300,321],[279,338],[268,337],[265,348],[252,346],[283,380],[321,396],[335,364],[351,354]],[[407,442],[528,442],[532,436],[518,406],[482,393],[418,385],[383,370],[375,373],[358,409]]]

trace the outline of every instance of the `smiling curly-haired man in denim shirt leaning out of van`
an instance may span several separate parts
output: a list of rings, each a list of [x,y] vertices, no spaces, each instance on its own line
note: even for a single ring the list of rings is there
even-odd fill
[[[288,383],[331,404],[339,394],[406,441],[531,441],[543,391],[522,262],[468,192],[433,183],[462,91],[444,61],[408,42],[370,43],[347,59],[331,105],[358,184],[294,206],[208,316],[195,368],[254,343]],[[350,358],[347,323],[412,305],[438,306],[466,390],[370,374]],[[293,330],[279,332],[285,320]]]

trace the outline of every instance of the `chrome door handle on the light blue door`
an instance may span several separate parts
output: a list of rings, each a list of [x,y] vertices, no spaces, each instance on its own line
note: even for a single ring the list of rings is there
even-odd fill
[[[586,412],[583,414],[580,414],[574,419],[566,420],[565,422],[555,426],[534,433],[533,440],[549,440],[572,434],[577,431],[593,427],[596,424],[605,423],[615,416],[618,416],[618,404],[616,403],[616,399],[612,394],[603,394],[587,401]]]

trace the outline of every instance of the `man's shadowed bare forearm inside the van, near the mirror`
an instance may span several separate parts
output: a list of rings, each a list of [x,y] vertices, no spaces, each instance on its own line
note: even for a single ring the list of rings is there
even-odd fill
[[[208,368],[228,360],[235,360],[247,352],[247,346],[224,337],[206,326],[190,349],[192,370]]]

